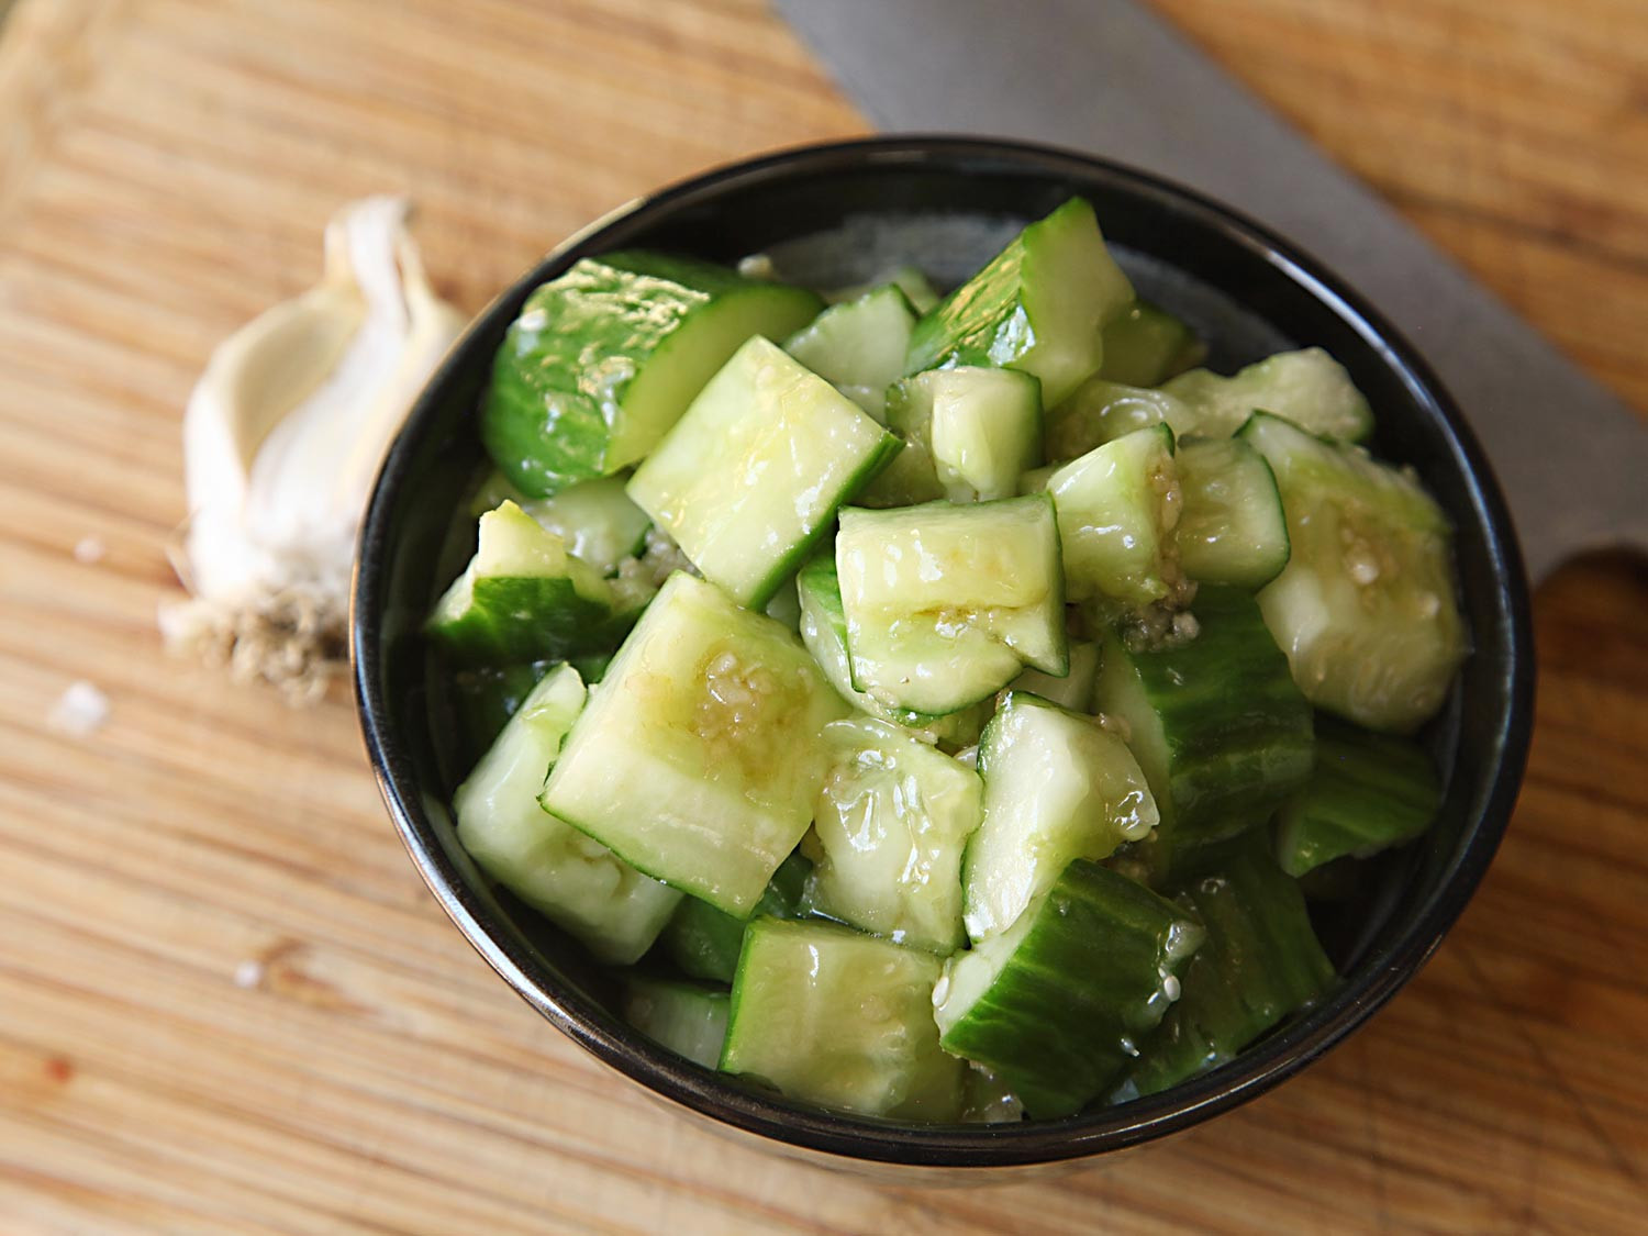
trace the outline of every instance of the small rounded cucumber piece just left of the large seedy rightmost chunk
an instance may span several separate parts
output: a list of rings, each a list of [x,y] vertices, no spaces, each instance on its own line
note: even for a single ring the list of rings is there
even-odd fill
[[[1195,438],[1180,443],[1173,463],[1185,575],[1249,590],[1274,580],[1287,565],[1287,516],[1264,456],[1243,438]]]

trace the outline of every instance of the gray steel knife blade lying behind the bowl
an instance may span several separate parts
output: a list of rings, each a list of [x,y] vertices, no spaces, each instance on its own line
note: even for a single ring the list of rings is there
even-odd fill
[[[1132,0],[775,0],[882,129],[1089,150],[1220,198],[1424,353],[1500,478],[1533,580],[1648,550],[1648,425]]]

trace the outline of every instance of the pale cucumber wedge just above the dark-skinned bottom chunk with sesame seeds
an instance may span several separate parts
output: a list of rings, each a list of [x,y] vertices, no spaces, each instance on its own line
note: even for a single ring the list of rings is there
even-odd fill
[[[1071,859],[1107,859],[1159,822],[1127,745],[1055,704],[1012,691],[979,743],[984,826],[967,845],[967,934],[1000,934]]]

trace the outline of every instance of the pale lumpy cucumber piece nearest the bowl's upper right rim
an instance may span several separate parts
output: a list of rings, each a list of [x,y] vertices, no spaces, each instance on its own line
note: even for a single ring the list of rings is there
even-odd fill
[[[1277,353],[1233,377],[1206,369],[1165,382],[1162,389],[1196,412],[1196,433],[1229,437],[1254,412],[1287,417],[1312,433],[1361,442],[1373,433],[1373,412],[1345,366],[1320,348]]]

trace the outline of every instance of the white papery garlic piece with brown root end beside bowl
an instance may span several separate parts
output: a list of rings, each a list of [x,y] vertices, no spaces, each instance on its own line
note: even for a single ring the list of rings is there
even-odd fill
[[[404,198],[326,224],[326,269],[213,353],[183,417],[190,517],[173,545],[188,600],[166,646],[325,694],[346,656],[349,577],[377,466],[466,318],[428,285]]]

